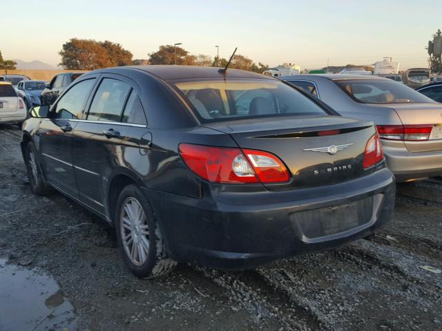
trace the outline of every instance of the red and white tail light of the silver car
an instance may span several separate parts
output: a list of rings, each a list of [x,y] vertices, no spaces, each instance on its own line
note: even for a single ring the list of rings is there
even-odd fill
[[[425,141],[430,138],[432,124],[376,126],[379,137],[387,140]]]

